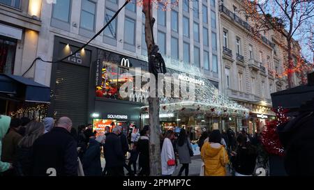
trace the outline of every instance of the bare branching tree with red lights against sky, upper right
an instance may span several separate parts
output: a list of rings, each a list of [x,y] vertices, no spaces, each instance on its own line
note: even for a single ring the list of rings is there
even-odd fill
[[[294,36],[297,33],[313,38],[314,1],[313,0],[243,0],[246,15],[255,22],[256,34],[273,30],[281,33],[285,39],[287,51],[288,87],[292,87]],[[310,31],[310,33],[308,33]],[[312,31],[312,33],[311,33]],[[305,62],[304,62],[305,63]],[[300,68],[301,66],[299,66]]]

